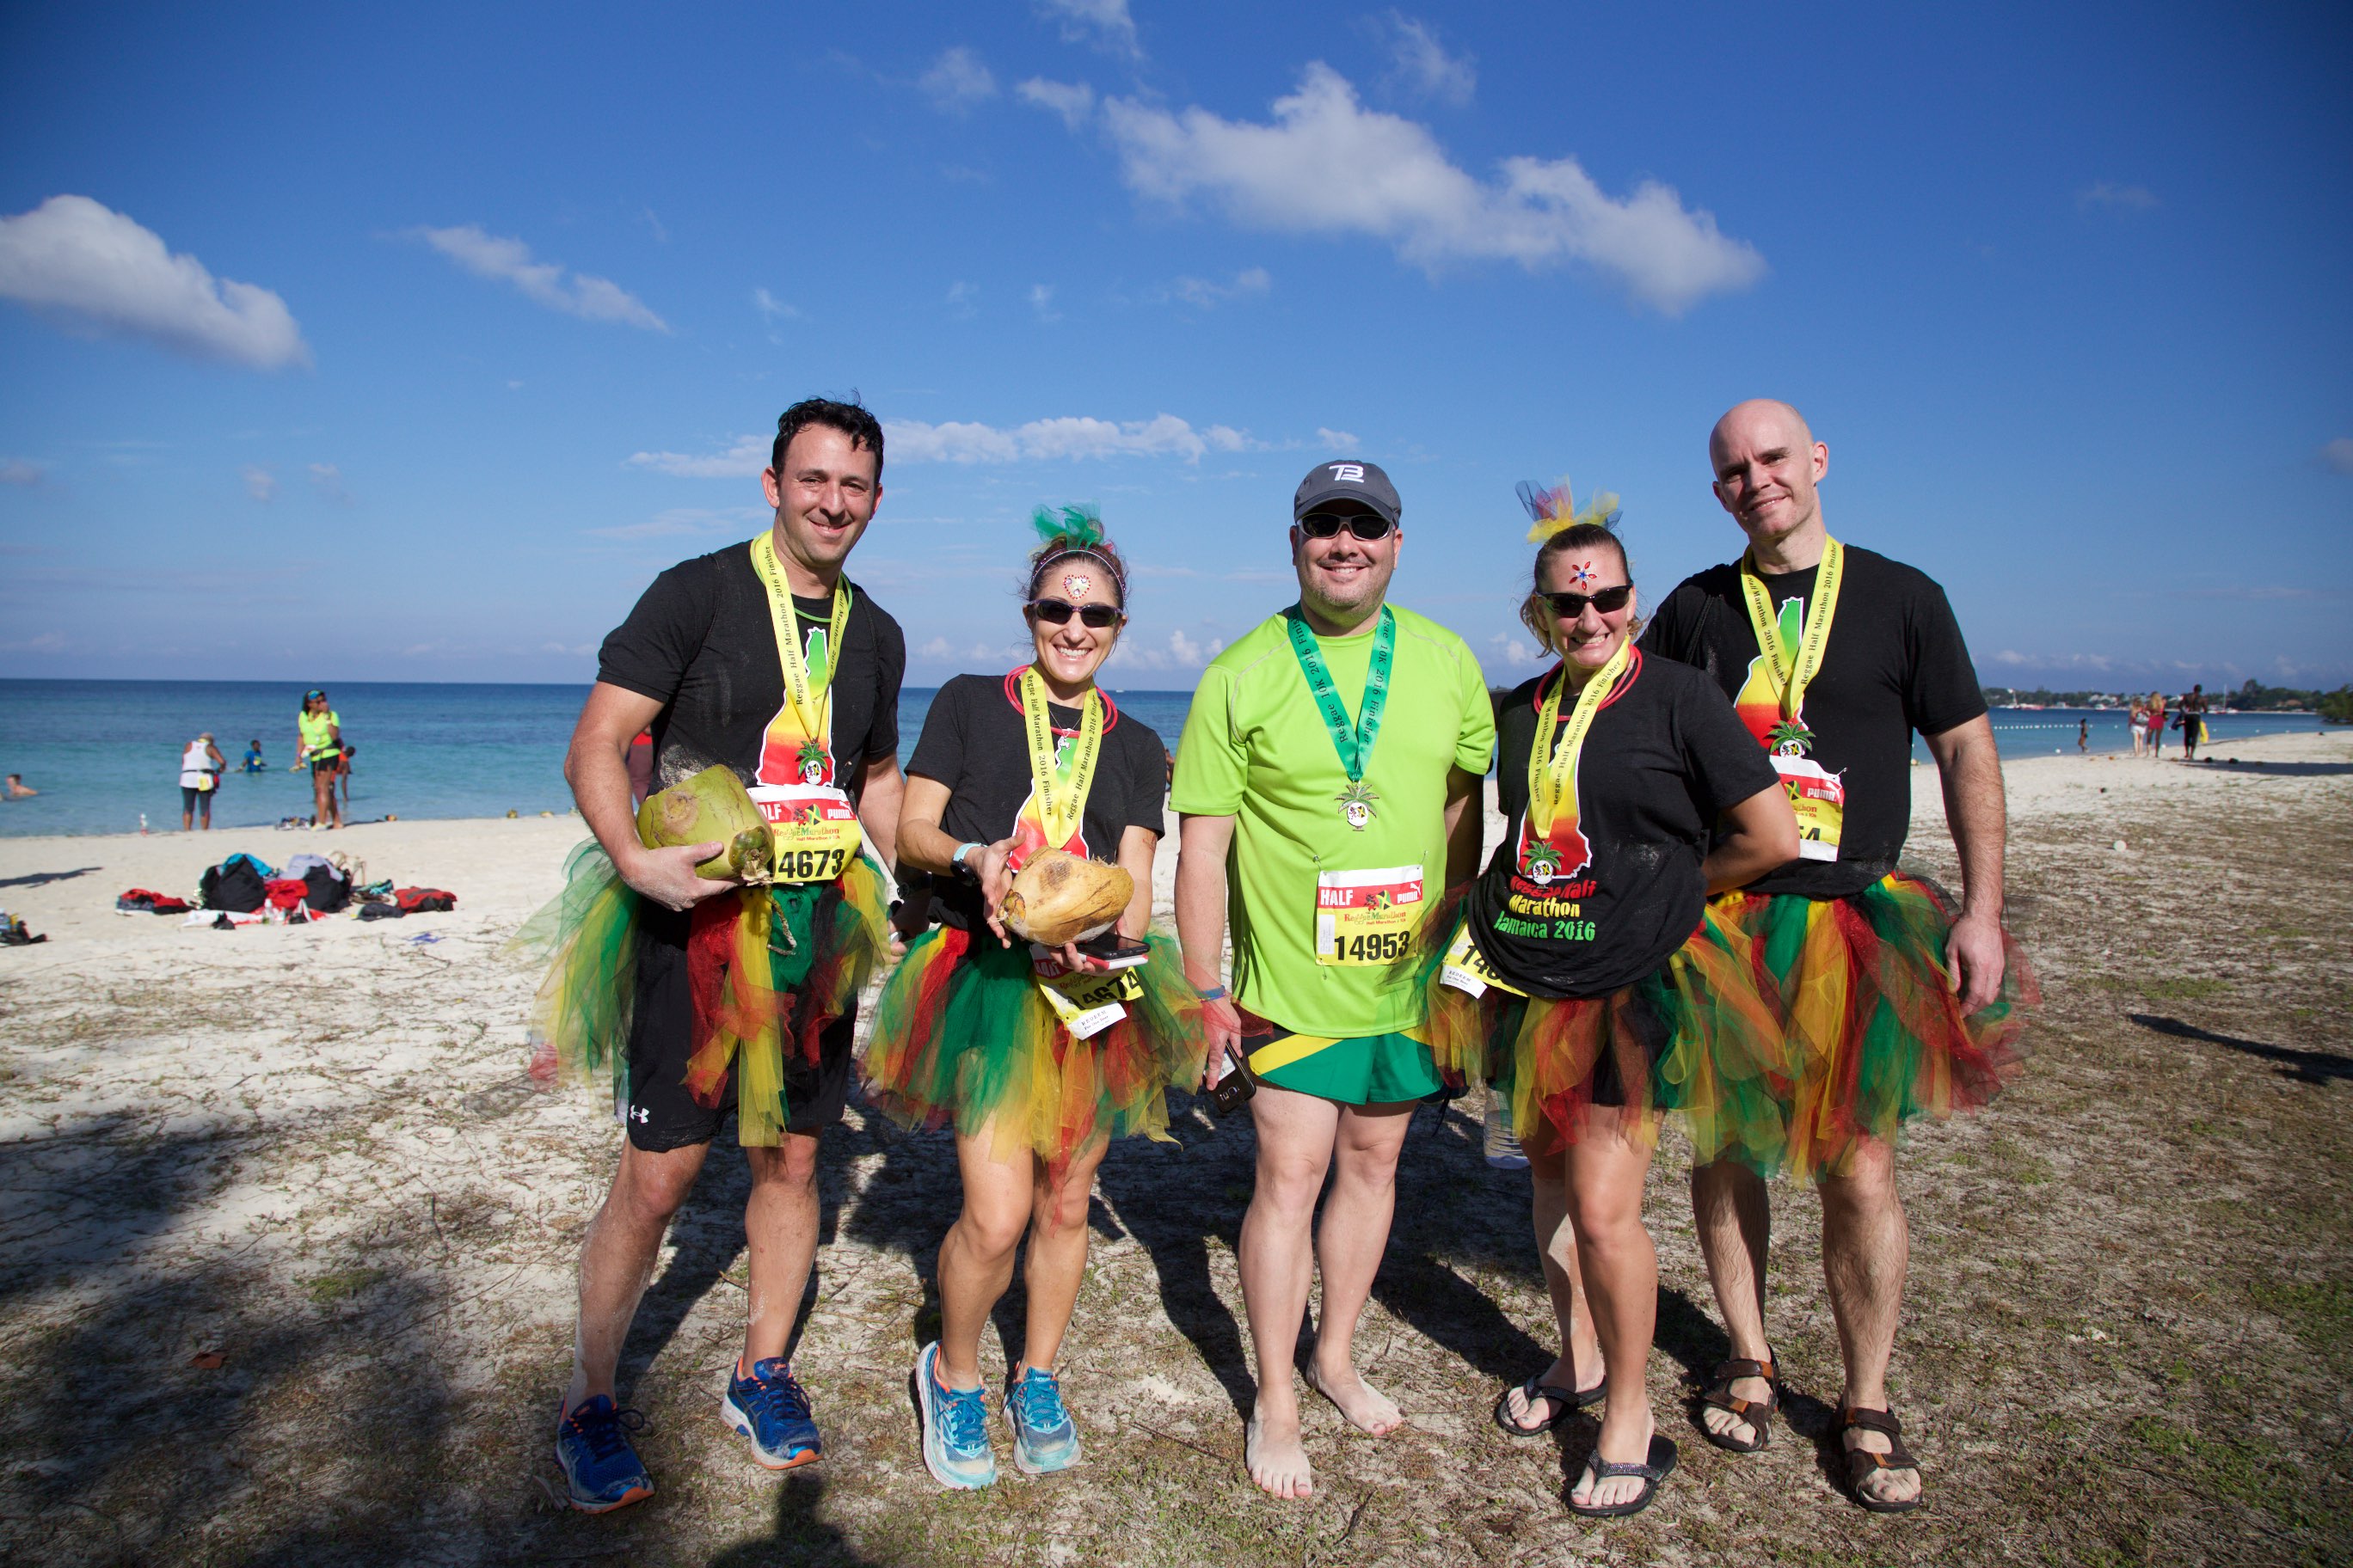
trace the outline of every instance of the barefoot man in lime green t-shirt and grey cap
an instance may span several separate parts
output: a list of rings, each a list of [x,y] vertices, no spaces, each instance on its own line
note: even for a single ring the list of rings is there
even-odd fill
[[[1176,750],[1176,936],[1202,994],[1212,1081],[1257,1079],[1242,1300],[1259,1356],[1249,1479],[1306,1497],[1292,1347],[1322,1262],[1308,1382],[1374,1436],[1402,1420],[1351,1352],[1388,1246],[1398,1150],[1440,1086],[1421,999],[1388,983],[1428,905],[1473,875],[1494,752],[1464,639],[1384,604],[1402,508],[1374,463],[1318,463],[1292,498],[1299,604],[1202,670]],[[1233,919],[1233,997],[1221,952]],[[1322,1232],[1315,1197],[1332,1171]]]

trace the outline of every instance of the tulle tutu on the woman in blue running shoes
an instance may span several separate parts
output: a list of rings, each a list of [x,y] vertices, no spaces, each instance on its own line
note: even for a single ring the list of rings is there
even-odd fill
[[[1096,1138],[1167,1143],[1169,1084],[1200,1077],[1200,999],[1176,943],[1144,938],[1144,994],[1127,1018],[1073,1039],[1038,990],[1026,943],[939,926],[908,945],[875,1001],[866,1095],[901,1126],[991,1128],[991,1154],[1028,1150],[1052,1168]]]

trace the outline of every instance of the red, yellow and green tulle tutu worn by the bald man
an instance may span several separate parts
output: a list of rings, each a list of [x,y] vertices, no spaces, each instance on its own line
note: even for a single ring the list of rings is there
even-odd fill
[[[1722,893],[1708,907],[1751,938],[1758,985],[1807,1060],[1791,1173],[1842,1171],[1857,1135],[1977,1110],[2017,1074],[2040,987],[2005,931],[2002,992],[1962,1016],[1944,961],[1953,898],[1934,882],[1894,872],[1849,898]]]

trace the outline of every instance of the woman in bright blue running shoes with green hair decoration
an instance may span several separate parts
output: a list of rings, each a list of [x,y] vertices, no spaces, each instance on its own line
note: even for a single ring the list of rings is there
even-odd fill
[[[1200,1077],[1200,1001],[1151,931],[1167,752],[1094,686],[1125,623],[1127,569],[1092,510],[1038,512],[1024,616],[1035,658],[960,675],[908,764],[899,865],[932,872],[941,926],[908,945],[875,1004],[866,1093],[906,1126],[955,1126],[965,1208],[939,1246],[939,1340],[915,1361],[922,1458],[944,1486],[995,1479],[981,1331],[1028,1234],[1028,1326],[1007,1415],[1024,1474],[1078,1460],[1054,1361],[1087,1267],[1087,1197],[1111,1138],[1167,1140],[1169,1084]],[[1115,933],[1148,959],[1108,969],[1033,947],[998,919],[1028,856],[1115,860],[1134,896]]]

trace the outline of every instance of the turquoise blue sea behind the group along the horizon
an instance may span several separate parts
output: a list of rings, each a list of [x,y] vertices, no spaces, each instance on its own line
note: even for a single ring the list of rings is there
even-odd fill
[[[588,686],[384,684],[332,686],[344,738],[358,748],[351,818],[506,816],[565,811],[565,741]],[[1191,691],[1113,691],[1172,748]],[[35,799],[0,802],[0,835],[155,832],[179,827],[179,755],[212,731],[231,773],[212,804],[214,827],[268,827],[311,813],[311,780],[289,773],[301,686],[278,682],[28,682],[0,679],[0,773],[24,773]],[[915,750],[929,686],[899,698],[899,757]],[[2115,710],[1995,710],[2009,757],[2129,750]],[[2219,715],[2217,752],[2233,738],[2318,729],[2313,715]],[[238,773],[247,741],[261,741],[264,773]],[[2172,738],[2167,750],[2177,750]],[[1918,752],[1927,759],[1927,752]]]

